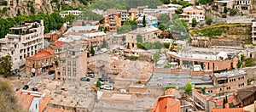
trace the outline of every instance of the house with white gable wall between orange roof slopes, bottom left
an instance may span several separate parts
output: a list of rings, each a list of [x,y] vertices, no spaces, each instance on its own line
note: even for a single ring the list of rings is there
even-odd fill
[[[21,90],[15,93],[17,104],[24,110],[30,112],[44,112],[49,104],[50,97],[45,97],[45,93]]]

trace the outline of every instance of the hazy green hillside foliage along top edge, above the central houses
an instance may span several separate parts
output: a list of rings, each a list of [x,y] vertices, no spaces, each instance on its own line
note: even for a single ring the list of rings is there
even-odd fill
[[[99,8],[101,10],[107,10],[108,8],[130,9],[146,5],[148,5],[148,8],[156,8],[161,4],[159,0],[143,0],[143,2],[141,0],[97,0],[96,3],[92,3],[87,8]]]

